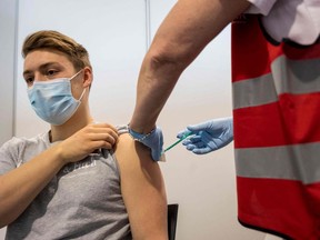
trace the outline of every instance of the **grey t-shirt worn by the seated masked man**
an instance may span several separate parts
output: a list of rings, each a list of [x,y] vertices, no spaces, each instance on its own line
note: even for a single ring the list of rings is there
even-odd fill
[[[48,133],[12,138],[0,148],[0,174],[19,168],[50,146]],[[132,239],[113,152],[101,150],[64,166],[8,226],[6,240],[19,239]]]

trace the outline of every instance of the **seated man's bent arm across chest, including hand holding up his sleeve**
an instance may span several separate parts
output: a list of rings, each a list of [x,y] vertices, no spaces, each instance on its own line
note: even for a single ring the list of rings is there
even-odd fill
[[[77,162],[96,149],[109,149],[110,142],[116,139],[116,132],[110,131],[109,124],[89,124],[0,176],[0,228],[14,221],[66,163]]]

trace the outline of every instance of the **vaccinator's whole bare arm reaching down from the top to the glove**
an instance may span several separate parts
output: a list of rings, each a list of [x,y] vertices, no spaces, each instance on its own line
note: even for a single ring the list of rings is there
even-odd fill
[[[150,132],[182,71],[248,7],[247,0],[179,0],[158,29],[138,79],[130,128]]]

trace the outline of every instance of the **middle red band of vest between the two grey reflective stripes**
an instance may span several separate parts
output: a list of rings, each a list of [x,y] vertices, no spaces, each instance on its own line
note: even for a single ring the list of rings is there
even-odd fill
[[[234,147],[320,141],[320,93],[281,94],[278,102],[233,110]]]

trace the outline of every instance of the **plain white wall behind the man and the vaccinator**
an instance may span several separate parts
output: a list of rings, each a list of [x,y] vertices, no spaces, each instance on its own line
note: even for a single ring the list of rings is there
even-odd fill
[[[7,69],[9,73],[4,79],[9,81],[18,76],[14,79],[16,136],[31,137],[39,131],[48,130],[48,126],[36,117],[29,106],[21,77],[22,41],[27,34],[42,29],[61,31],[89,50],[94,71],[90,97],[93,117],[98,121],[109,121],[113,124],[127,123],[130,120],[137,77],[146,52],[146,2],[147,0],[19,1],[18,52],[14,54],[13,46],[0,54],[1,63],[2,58],[17,59],[17,69],[8,63],[11,69]],[[174,2],[150,0],[151,36]],[[0,0],[3,13],[12,7],[14,1]],[[2,18],[2,11],[0,13]],[[12,19],[14,20],[13,17]],[[11,38],[14,36],[12,29],[1,22],[0,30],[8,32]],[[0,68],[2,70],[2,66]],[[4,80],[0,81],[1,97],[3,89],[8,90]],[[9,103],[13,92],[11,87],[6,93]],[[8,111],[12,116],[12,104],[7,107],[7,102],[1,101],[0,110],[9,108]],[[162,111],[158,123],[163,129],[164,147],[174,142],[177,132],[189,123],[230,114],[230,29],[227,28],[181,76]],[[2,120],[1,113],[1,138],[11,137],[12,131],[2,137],[2,131],[10,129],[12,119]],[[169,202],[180,204],[177,240],[263,239],[264,234],[244,229],[237,221],[232,144],[207,156],[193,156],[182,146],[178,146],[167,153],[167,162],[161,163],[161,169]]]

